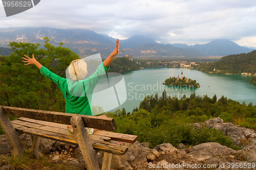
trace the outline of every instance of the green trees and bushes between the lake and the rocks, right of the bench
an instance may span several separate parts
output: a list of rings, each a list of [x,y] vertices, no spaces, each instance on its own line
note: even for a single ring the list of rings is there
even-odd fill
[[[164,92],[163,92],[164,94]],[[149,100],[148,100],[149,99]],[[182,107],[181,107],[182,106]],[[146,96],[139,109],[132,115],[123,114],[124,109],[106,113],[115,118],[116,132],[138,136],[139,142],[148,142],[154,148],[161,143],[180,143],[195,145],[203,142],[218,142],[229,148],[239,150],[240,146],[216,129],[203,127],[193,129],[189,124],[204,122],[209,118],[221,117],[224,122],[231,122],[245,128],[256,129],[256,106],[232,101],[214,95],[190,95],[190,98],[160,98],[158,94]]]

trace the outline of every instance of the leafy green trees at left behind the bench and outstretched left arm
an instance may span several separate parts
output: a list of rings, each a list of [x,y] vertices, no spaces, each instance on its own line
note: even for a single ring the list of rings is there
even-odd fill
[[[33,43],[10,42],[14,51],[0,60],[0,104],[5,106],[64,111],[65,100],[56,84],[40,74],[35,65],[25,66],[22,57],[34,54],[35,59],[54,74],[65,77],[66,68],[79,56],[63,43],[55,47],[45,38],[44,48]]]

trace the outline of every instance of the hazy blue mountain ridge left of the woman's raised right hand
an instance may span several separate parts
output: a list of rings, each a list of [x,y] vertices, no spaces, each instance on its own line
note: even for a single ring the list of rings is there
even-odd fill
[[[0,29],[0,44],[7,47],[9,41],[20,41],[44,44],[43,37],[48,37],[50,43],[68,47],[80,56],[100,53],[108,56],[115,48],[115,43],[108,38],[86,29],[56,29],[56,28],[8,28]],[[42,46],[40,46],[42,47]]]

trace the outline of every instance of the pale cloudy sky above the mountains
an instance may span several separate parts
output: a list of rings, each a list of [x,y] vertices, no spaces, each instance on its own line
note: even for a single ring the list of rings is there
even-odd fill
[[[9,27],[80,28],[119,39],[143,35],[189,45],[230,39],[256,47],[256,1],[41,0],[9,17],[0,4],[0,28]]]

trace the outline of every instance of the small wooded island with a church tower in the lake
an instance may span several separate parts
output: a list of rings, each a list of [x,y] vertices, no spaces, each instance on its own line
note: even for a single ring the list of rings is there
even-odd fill
[[[177,78],[170,77],[169,79],[166,79],[163,84],[182,87],[201,87],[199,83],[197,83],[197,80],[187,79],[186,77],[183,77],[182,71],[180,77],[179,75]]]

